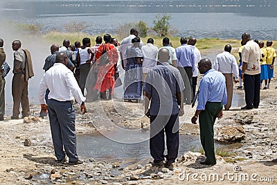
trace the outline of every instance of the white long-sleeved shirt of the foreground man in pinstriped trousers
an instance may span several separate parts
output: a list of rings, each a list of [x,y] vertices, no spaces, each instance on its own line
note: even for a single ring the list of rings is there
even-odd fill
[[[62,63],[55,63],[44,76],[39,84],[39,103],[45,103],[44,94],[49,89],[48,99],[58,101],[75,100],[81,105],[86,98],[73,76],[72,71]]]

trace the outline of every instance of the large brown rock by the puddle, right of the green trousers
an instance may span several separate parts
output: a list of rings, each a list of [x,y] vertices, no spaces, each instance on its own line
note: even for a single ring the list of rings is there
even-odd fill
[[[245,132],[242,126],[223,126],[215,132],[215,141],[220,143],[240,142],[245,138]]]

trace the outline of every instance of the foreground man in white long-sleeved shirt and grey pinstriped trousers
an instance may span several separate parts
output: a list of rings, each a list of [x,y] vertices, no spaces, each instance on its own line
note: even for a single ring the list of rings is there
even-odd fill
[[[82,164],[76,152],[75,109],[73,98],[80,105],[82,114],[87,112],[84,105],[84,96],[74,78],[73,73],[66,67],[67,56],[58,53],[56,63],[42,78],[39,84],[39,103],[47,107],[55,156],[57,162],[66,162],[65,155],[69,157],[69,164]],[[44,94],[49,89],[47,105]],[[65,152],[64,152],[65,150]]]

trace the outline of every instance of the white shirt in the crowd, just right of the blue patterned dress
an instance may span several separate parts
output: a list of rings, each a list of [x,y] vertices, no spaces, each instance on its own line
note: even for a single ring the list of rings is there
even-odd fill
[[[157,65],[158,47],[151,43],[141,48],[143,52],[143,73],[148,73],[150,69]]]

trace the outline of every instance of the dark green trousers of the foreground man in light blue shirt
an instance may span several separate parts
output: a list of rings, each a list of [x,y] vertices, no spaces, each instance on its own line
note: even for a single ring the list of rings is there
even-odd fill
[[[205,110],[199,114],[200,140],[205,151],[206,161],[210,163],[216,163],[213,124],[222,107],[222,103],[207,102]]]

